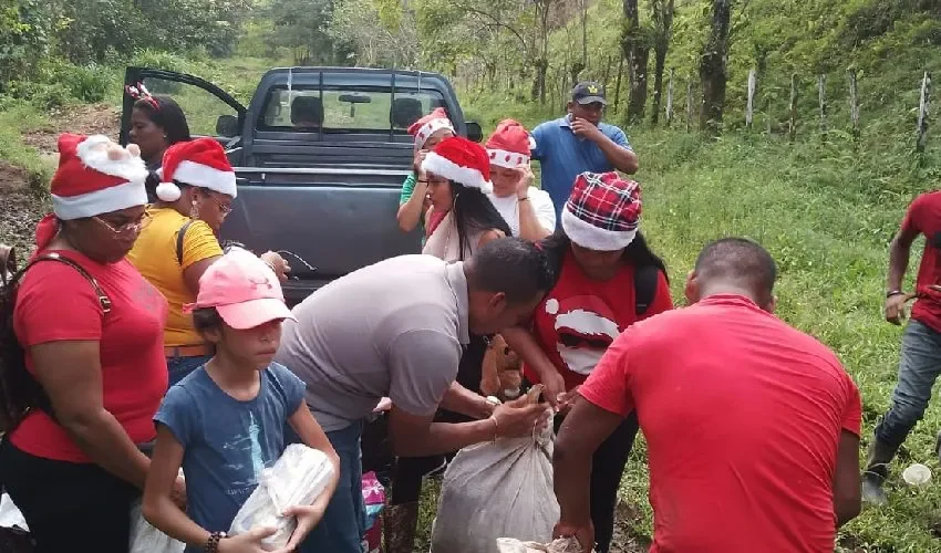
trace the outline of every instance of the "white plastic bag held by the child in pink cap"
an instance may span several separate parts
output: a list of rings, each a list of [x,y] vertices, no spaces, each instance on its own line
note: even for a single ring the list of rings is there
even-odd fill
[[[229,535],[244,534],[255,528],[276,528],[278,531],[263,539],[261,546],[265,551],[283,547],[298,522],[281,513],[289,507],[313,503],[332,477],[333,465],[323,451],[291,444],[275,466],[261,473],[258,488],[236,513]]]

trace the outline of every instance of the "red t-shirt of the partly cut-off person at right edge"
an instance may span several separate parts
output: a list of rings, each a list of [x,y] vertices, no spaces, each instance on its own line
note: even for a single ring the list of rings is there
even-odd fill
[[[911,309],[911,317],[941,332],[941,293],[928,288],[941,284],[941,191],[922,194],[911,202],[902,220],[902,232],[912,231],[924,236],[924,252],[916,280],[920,298]]]

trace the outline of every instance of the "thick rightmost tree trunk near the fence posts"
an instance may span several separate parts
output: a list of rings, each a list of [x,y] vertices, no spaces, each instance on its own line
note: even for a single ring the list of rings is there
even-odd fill
[[[728,79],[728,27],[732,0],[713,0],[712,29],[700,59],[700,82],[703,103],[700,109],[700,131],[717,133],[725,108],[725,85]]]

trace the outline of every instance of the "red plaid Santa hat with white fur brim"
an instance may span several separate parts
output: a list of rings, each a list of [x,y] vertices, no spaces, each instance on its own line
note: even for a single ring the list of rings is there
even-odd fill
[[[640,185],[617,173],[582,173],[562,210],[569,239],[589,250],[627,248],[638,232]]]

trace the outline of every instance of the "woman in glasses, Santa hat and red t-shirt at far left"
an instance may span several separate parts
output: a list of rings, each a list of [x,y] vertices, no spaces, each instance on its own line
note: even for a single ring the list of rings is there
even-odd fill
[[[38,553],[126,553],[167,387],[167,302],[125,259],[147,219],[147,170],[136,146],[105,136],[62,135],[59,153],[53,213],[3,291],[0,484]],[[182,480],[174,492],[183,504]]]

